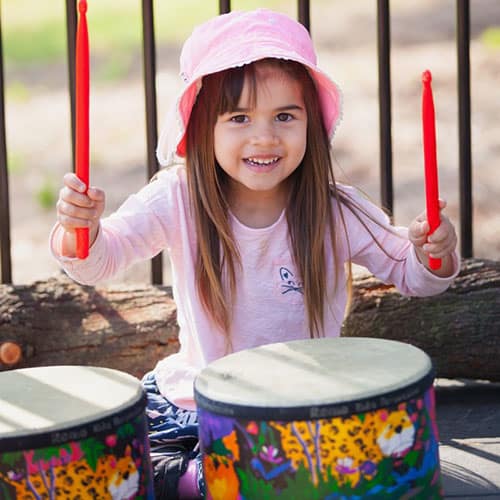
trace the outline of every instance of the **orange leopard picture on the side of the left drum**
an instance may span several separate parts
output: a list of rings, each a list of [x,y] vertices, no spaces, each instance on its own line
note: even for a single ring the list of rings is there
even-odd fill
[[[130,455],[101,456],[95,471],[82,459],[28,477],[0,473],[1,480],[13,487],[16,500],[125,500],[139,489],[139,472]]]

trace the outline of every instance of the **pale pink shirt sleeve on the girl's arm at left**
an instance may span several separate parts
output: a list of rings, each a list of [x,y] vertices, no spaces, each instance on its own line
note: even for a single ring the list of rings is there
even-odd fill
[[[162,172],[120,208],[101,220],[86,259],[61,255],[63,229],[57,223],[49,238],[50,250],[64,271],[78,283],[94,285],[112,278],[134,263],[168,248],[175,231],[176,209],[182,189],[175,171]]]

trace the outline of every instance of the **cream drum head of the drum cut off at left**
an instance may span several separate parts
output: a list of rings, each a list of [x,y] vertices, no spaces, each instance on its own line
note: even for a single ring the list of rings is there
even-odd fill
[[[50,366],[0,373],[0,442],[64,434],[88,423],[143,411],[139,380],[117,370]],[[137,408],[136,408],[137,407]],[[72,436],[77,437],[77,436]]]

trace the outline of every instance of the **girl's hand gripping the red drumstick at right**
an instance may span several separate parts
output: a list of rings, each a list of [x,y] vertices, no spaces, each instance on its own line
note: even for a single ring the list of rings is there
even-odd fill
[[[430,235],[427,236],[430,230],[429,222],[425,212],[416,217],[408,227],[408,238],[415,246],[415,250],[420,261],[429,268],[429,257],[435,259],[443,259],[441,268],[432,271],[434,274],[440,276],[447,276],[452,271],[447,272],[451,268],[451,255],[457,246],[457,235],[455,227],[450,219],[443,214],[443,209],[446,207],[445,200],[439,200],[439,210],[441,224]],[[450,262],[448,263],[447,260]]]

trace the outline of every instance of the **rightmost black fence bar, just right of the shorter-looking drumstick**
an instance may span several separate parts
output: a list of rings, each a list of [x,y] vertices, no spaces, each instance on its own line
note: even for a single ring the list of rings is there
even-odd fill
[[[469,0],[457,0],[458,150],[460,172],[460,251],[462,257],[473,256],[469,7]]]

